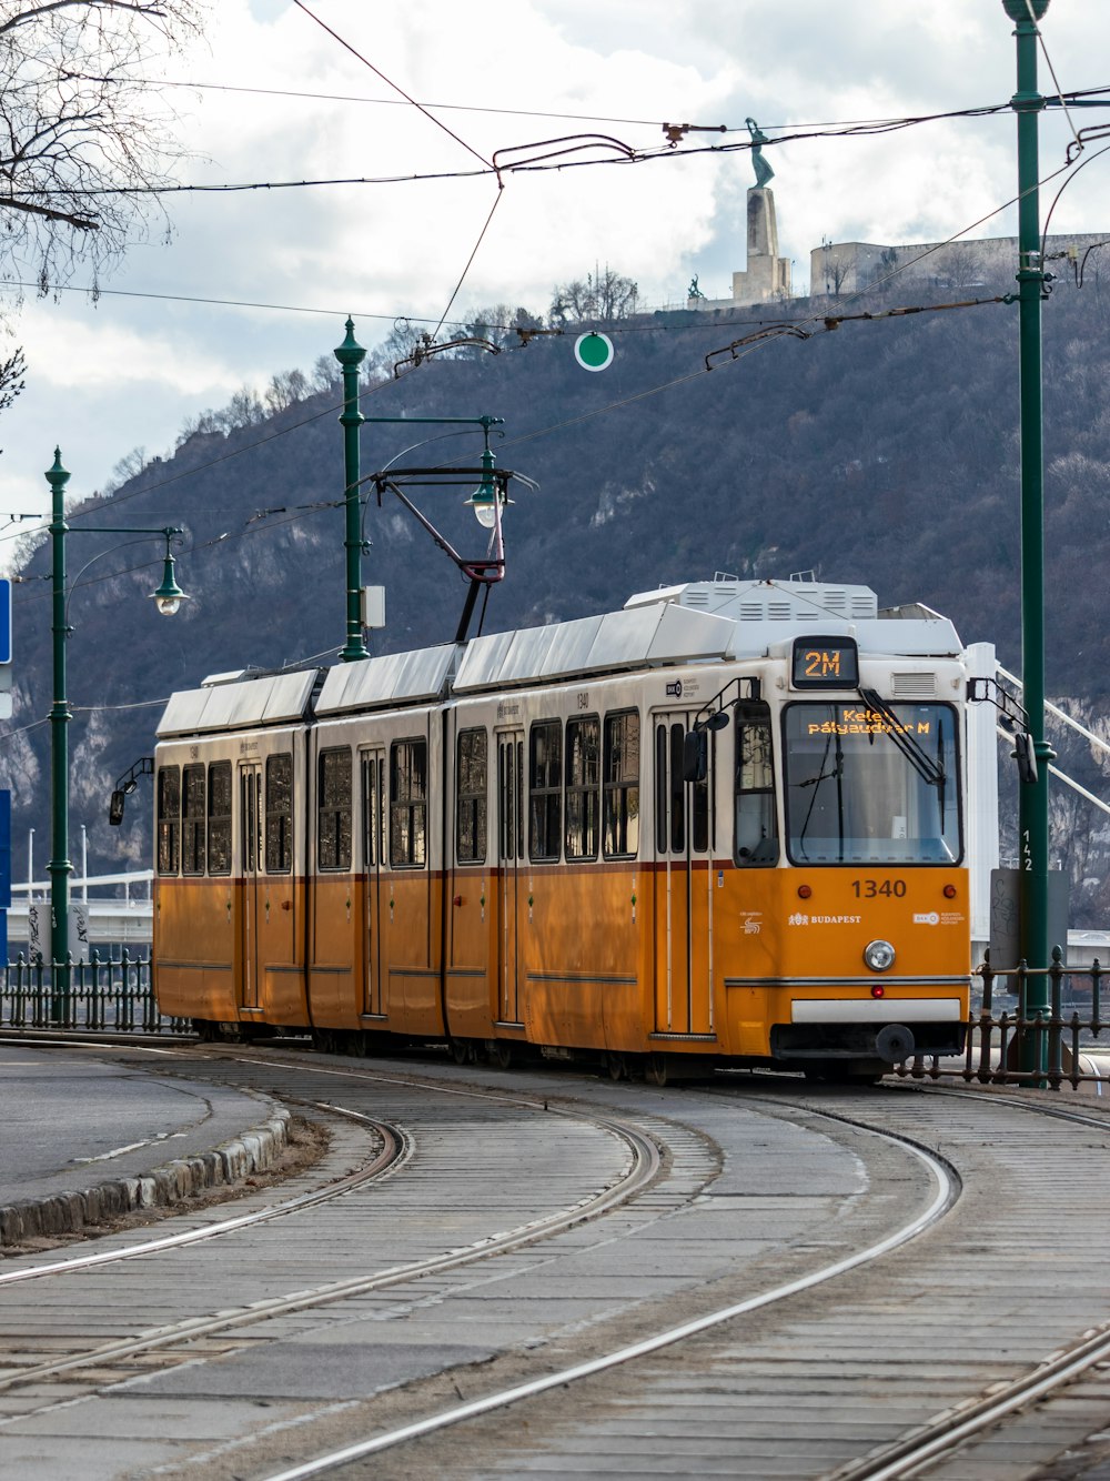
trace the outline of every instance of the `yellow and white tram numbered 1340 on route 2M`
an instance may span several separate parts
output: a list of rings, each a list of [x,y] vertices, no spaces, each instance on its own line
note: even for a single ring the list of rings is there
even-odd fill
[[[966,680],[928,609],[716,578],[178,693],[161,1012],[657,1080],[956,1052]]]

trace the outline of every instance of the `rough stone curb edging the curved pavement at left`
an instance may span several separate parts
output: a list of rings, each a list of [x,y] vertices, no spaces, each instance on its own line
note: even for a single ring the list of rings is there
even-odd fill
[[[265,1121],[200,1157],[175,1158],[139,1177],[112,1177],[74,1192],[3,1204],[0,1248],[41,1237],[80,1234],[105,1219],[179,1203],[207,1188],[228,1188],[252,1173],[266,1171],[289,1140],[289,1111],[275,1106]]]

